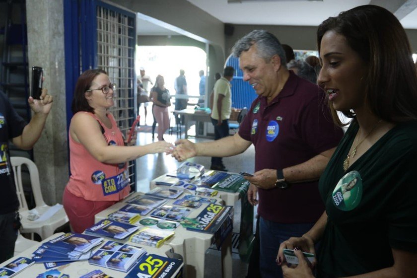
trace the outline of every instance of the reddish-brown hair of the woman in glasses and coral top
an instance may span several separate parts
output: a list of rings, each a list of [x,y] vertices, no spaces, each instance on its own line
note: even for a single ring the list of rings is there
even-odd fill
[[[94,113],[94,108],[92,108],[85,98],[85,91],[91,87],[91,83],[93,82],[94,78],[104,73],[107,75],[105,70],[94,69],[94,70],[85,70],[81,75],[78,77],[77,83],[75,85],[74,90],[74,98],[72,99],[71,110],[72,113],[77,113],[79,111],[86,111]]]

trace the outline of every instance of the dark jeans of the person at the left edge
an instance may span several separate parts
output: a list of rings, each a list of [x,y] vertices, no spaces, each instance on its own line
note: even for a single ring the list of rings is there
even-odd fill
[[[0,214],[0,263],[10,259],[14,254],[17,229],[14,228],[16,212]]]

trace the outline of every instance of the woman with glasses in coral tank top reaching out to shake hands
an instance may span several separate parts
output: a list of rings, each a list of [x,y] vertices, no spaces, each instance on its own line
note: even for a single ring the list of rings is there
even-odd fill
[[[167,151],[166,142],[125,146],[122,132],[108,109],[116,85],[104,70],[86,70],[75,85],[70,123],[70,181],[63,196],[73,231],[94,224],[94,215],[130,192],[127,161]]]

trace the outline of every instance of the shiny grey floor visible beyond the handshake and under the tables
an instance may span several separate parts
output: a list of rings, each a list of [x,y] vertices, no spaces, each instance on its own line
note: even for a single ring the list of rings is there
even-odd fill
[[[192,127],[193,128],[193,127]],[[183,136],[184,138],[184,136]],[[164,139],[168,142],[174,143],[177,139],[175,135],[164,135]],[[194,139],[193,142],[206,141],[208,139]],[[148,144],[152,142],[150,133],[138,133],[137,142],[139,145]],[[230,172],[253,172],[255,150],[253,145],[250,146],[244,153],[223,158],[223,163]],[[210,157],[195,157],[190,159],[199,164],[203,164],[207,168],[210,167]],[[167,172],[175,171],[180,162],[177,162],[171,156],[165,154],[150,154],[137,159],[137,174],[138,174],[138,191],[146,192],[149,190],[149,182]],[[238,203],[235,206],[234,215],[234,232],[238,232],[240,225],[240,206]],[[206,255],[206,278],[221,277],[221,257],[220,251],[209,250]],[[237,254],[233,254],[233,277],[244,278],[247,273],[247,264],[239,259]]]

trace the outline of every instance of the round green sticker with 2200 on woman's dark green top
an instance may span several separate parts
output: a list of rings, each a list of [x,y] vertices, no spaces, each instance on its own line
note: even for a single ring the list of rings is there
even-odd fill
[[[358,171],[343,176],[333,190],[333,205],[340,210],[356,208],[362,199],[362,179]]]

